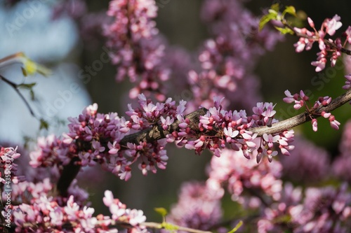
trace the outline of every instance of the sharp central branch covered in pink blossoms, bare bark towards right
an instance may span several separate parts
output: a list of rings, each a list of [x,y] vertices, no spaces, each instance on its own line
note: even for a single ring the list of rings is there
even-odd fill
[[[223,110],[220,100],[215,100],[215,106],[208,110],[199,108],[183,115],[185,102],[177,107],[171,99],[168,99],[166,104],[153,104],[143,95],[139,98],[140,108],[132,108],[129,105],[127,114],[131,116],[131,120],[117,118],[117,113],[96,115],[97,106],[91,106],[79,118],[71,119],[71,131],[65,134],[63,141],[59,139],[58,147],[74,148],[68,156],[74,160],[69,160],[67,154],[60,155],[67,149],[50,148],[59,153],[50,160],[61,164],[58,165],[62,169],[58,181],[61,194],[66,193],[69,183],[77,175],[80,167],[87,164],[92,166],[100,163],[105,169],[126,180],[130,178],[130,166],[135,162],[139,164],[138,167],[144,175],[147,171],[155,173],[154,165],[165,169],[168,157],[164,146],[171,142],[195,150],[198,154],[207,148],[218,157],[225,144],[229,144],[232,149],[240,150],[247,158],[257,156],[258,162],[263,155],[267,155],[270,160],[272,156],[277,155],[274,144],[279,146],[284,155],[289,155],[289,150],[293,149],[293,146],[289,146],[293,139],[293,132],[289,132],[289,129],[311,120],[314,122],[321,115],[329,118],[332,127],[338,128],[338,122],[330,112],[351,101],[351,91],[333,100],[318,100],[314,107],[305,113],[282,122],[274,119],[275,111],[272,104],[268,103],[258,103],[251,116],[247,116],[245,111]],[[293,96],[288,98],[293,101]],[[305,96],[304,98],[307,99]],[[116,121],[111,121],[112,116]],[[317,125],[314,125],[314,128],[317,130]],[[133,131],[132,134],[126,134]],[[253,155],[253,151],[257,151],[258,154]],[[50,154],[53,155],[55,154]],[[42,156],[47,155],[39,153],[32,156],[32,164],[44,160]]]

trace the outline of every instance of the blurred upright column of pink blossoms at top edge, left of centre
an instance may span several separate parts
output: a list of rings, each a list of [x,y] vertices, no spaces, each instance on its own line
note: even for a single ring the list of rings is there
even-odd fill
[[[114,0],[107,15],[114,17],[114,22],[105,27],[105,36],[107,46],[115,51],[111,57],[118,66],[117,80],[129,77],[138,83],[129,92],[133,99],[141,92],[156,92],[157,99],[164,100],[161,83],[168,79],[169,71],[161,64],[165,45],[153,21],[157,16],[155,2]]]

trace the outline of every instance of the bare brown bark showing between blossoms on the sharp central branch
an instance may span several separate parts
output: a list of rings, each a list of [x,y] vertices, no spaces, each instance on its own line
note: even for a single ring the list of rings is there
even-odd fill
[[[270,126],[262,126],[262,127],[253,127],[250,130],[253,133],[258,134],[258,136],[263,136],[263,134],[277,134],[279,132],[284,132],[284,130],[291,129],[298,125],[301,125],[305,122],[309,122],[312,118],[319,118],[322,111],[327,113],[333,111],[334,109],[346,104],[348,101],[351,101],[351,90],[345,92],[345,94],[340,95],[336,99],[333,99],[328,106],[320,106],[316,109],[312,108],[310,112],[300,113],[299,115],[293,116],[292,118],[283,120],[281,122],[274,123]],[[216,135],[216,131],[208,131],[208,132],[200,132],[199,129],[199,118],[200,115],[205,115],[207,112],[206,108],[199,108],[199,110],[194,111],[190,114],[185,115],[185,118],[190,120],[190,129],[193,130],[195,134],[206,134],[206,135]],[[173,122],[170,125],[169,129],[164,130],[160,125],[154,125],[154,127],[150,129],[144,129],[140,132],[136,132],[135,134],[129,134],[124,136],[123,139],[119,142],[121,145],[121,150],[126,150],[127,143],[140,143],[140,141],[152,143],[159,139],[164,139],[167,134],[171,134],[174,131],[178,131],[179,122]],[[75,160],[74,162],[77,162]],[[61,195],[67,195],[67,188],[70,183],[73,181],[75,176],[77,176],[80,166],[75,165],[74,162],[70,162],[62,171],[62,176],[58,181],[58,192]]]

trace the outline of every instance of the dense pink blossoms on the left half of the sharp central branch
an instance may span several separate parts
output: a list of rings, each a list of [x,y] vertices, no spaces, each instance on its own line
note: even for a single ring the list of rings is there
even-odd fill
[[[139,169],[146,175],[147,171],[156,173],[156,166],[165,169],[168,157],[164,146],[166,139],[160,139],[150,143],[126,143],[121,145],[121,139],[126,134],[150,129],[154,125],[161,125],[166,130],[175,119],[180,120],[180,127],[187,123],[183,118],[185,101],[176,101],[171,98],[164,103],[153,104],[143,94],[139,95],[140,108],[128,106],[126,118],[119,118],[117,113],[97,113],[98,105],[93,104],[84,109],[78,118],[69,118],[71,122],[69,132],[63,134],[62,139],[55,136],[40,138],[38,150],[30,154],[32,167],[62,168],[68,164],[72,157],[78,157],[77,164],[93,166],[102,164],[104,169],[118,175],[121,179],[128,180],[131,177],[131,164],[139,162]],[[185,135],[186,132],[175,132],[177,136]]]

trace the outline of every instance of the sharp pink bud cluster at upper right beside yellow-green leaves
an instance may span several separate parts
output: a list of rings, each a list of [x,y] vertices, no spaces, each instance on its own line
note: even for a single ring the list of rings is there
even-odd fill
[[[340,38],[326,39],[326,35],[333,36],[336,30],[340,29],[343,25],[340,22],[340,16],[334,15],[333,18],[326,18],[322,22],[322,26],[319,30],[314,27],[314,22],[310,17],[307,18],[308,24],[312,27],[313,31],[309,31],[306,28],[294,27],[294,31],[300,39],[294,44],[296,52],[302,52],[303,50],[310,50],[314,42],[318,42],[320,52],[317,53],[317,61],[312,62],[312,66],[316,66],[316,72],[322,71],[327,62],[327,58],[330,55],[331,66],[335,66],[336,60],[341,56],[341,49],[345,47],[346,43],[351,44],[351,27],[349,26],[345,31],[345,42],[342,43]]]

